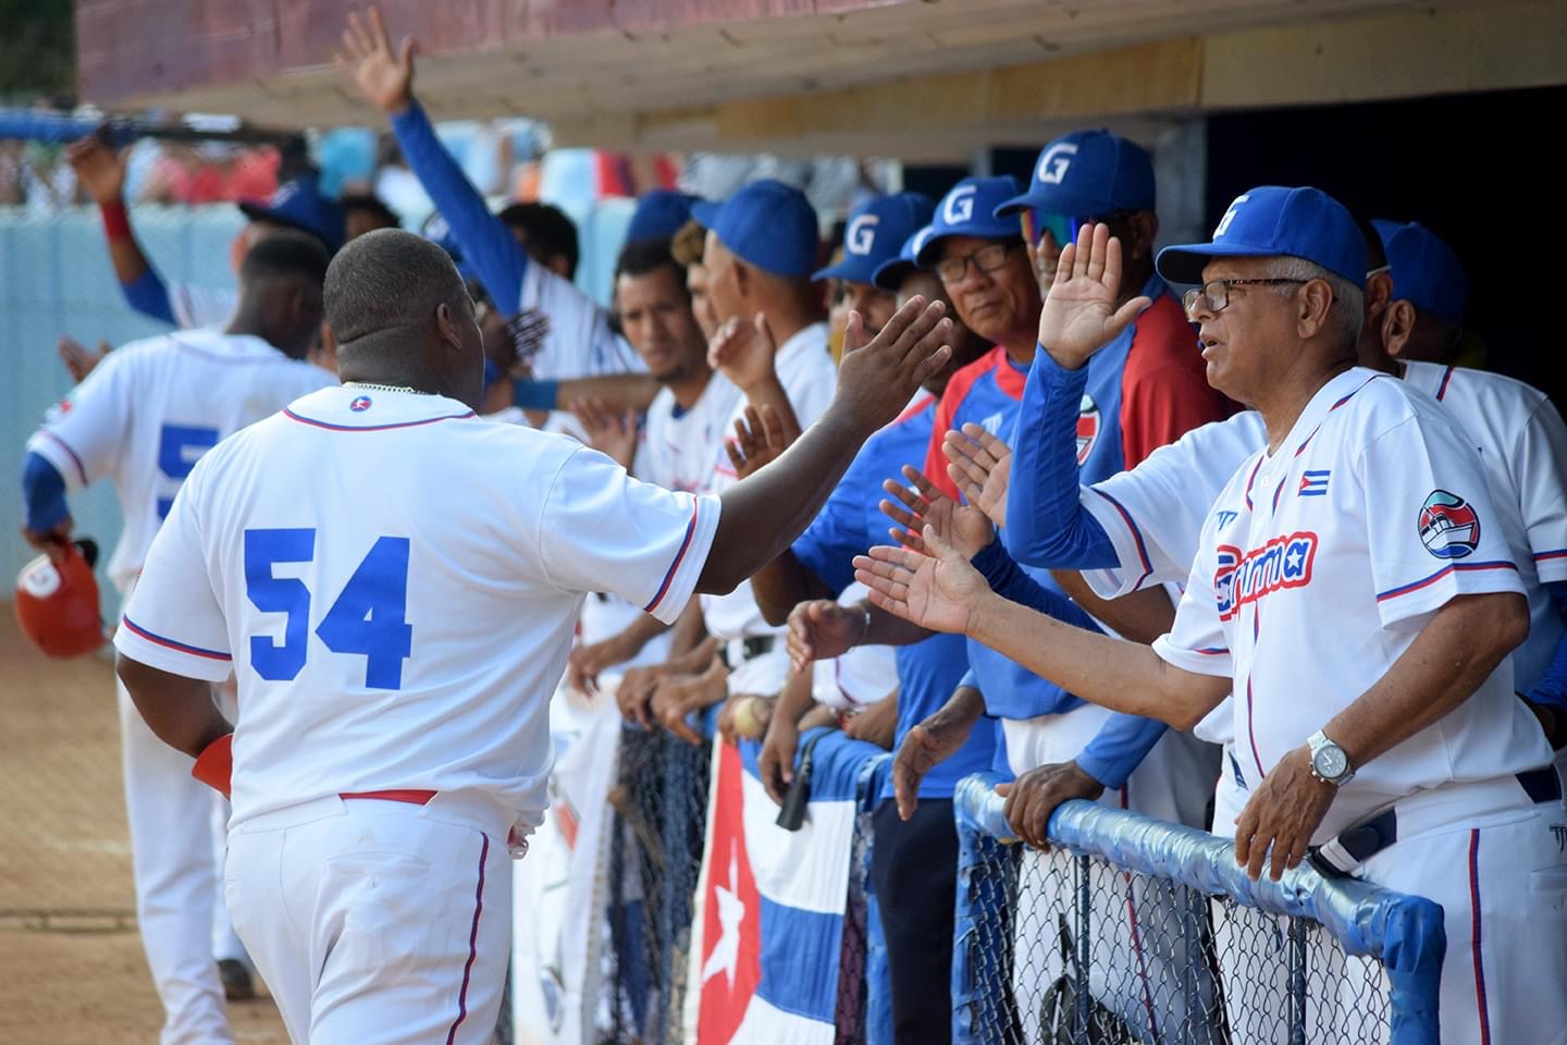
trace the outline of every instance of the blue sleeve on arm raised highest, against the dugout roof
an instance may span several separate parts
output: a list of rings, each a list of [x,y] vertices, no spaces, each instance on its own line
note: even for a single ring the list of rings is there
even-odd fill
[[[403,149],[403,160],[451,227],[462,248],[462,260],[480,274],[495,307],[508,320],[517,315],[528,254],[506,224],[490,213],[489,204],[440,144],[418,102],[392,118],[392,133]]]

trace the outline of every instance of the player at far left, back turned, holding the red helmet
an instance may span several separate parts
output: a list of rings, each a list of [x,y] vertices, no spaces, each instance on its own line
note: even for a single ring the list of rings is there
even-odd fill
[[[71,536],[64,492],[111,479],[124,531],[108,577],[128,598],[196,461],[226,436],[332,384],[332,374],[301,362],[321,323],[326,265],[326,249],[312,237],[270,235],[240,268],[240,302],[223,332],[147,338],[99,363],[28,440],[28,541],[58,548]],[[229,1042],[210,940],[213,796],[147,730],[124,689],[119,714],[136,918],[163,1000],[161,1040]]]

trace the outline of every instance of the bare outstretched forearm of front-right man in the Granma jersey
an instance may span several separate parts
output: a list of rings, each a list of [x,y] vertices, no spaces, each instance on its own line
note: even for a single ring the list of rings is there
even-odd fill
[[[1191,729],[1230,691],[1227,678],[1164,663],[1147,645],[1062,624],[997,594],[981,597],[968,638],[1091,703]]]

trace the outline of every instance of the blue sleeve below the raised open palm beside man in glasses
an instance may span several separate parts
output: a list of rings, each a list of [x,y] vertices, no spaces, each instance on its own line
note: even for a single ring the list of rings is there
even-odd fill
[[[1111,569],[1116,547],[1078,501],[1077,421],[1087,367],[1062,370],[1034,353],[1012,436],[1001,539],[1019,562],[1050,570]]]

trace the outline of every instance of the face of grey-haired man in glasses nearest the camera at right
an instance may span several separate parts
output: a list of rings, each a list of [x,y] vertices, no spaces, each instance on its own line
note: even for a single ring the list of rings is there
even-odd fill
[[[1214,279],[1268,279],[1274,259],[1221,257],[1202,269],[1203,282]],[[1202,295],[1191,320],[1199,324],[1197,340],[1208,363],[1208,384],[1236,403],[1255,403],[1268,390],[1280,363],[1299,356],[1294,295],[1274,287],[1230,285],[1229,304],[1214,312]]]

